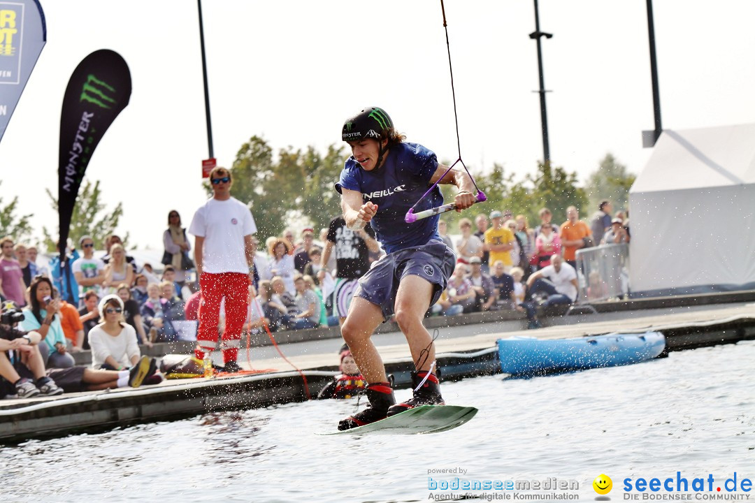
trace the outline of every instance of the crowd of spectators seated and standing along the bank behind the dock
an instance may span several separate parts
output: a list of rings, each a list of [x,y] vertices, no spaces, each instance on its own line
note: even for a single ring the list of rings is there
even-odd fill
[[[566,215],[565,222],[555,225],[550,210],[543,208],[540,222],[532,227],[523,215],[492,210],[474,220],[460,219],[457,238],[449,235],[448,225],[440,220],[439,235],[457,254],[458,264],[428,315],[527,311],[525,302],[533,302],[528,280],[545,271],[535,284],[542,288],[552,274],[553,256],[563,258],[565,265],[559,270],[569,270],[575,268],[575,254],[581,248],[630,240],[625,213],[612,216],[609,201],[602,201],[588,222],[578,218],[576,207],[569,207]],[[280,236],[267,238],[263,247],[255,237],[254,284],[245,327],[263,330],[263,324],[251,319],[251,314],[260,314],[257,318],[267,321],[273,331],[333,326],[343,320],[347,302],[346,307],[337,305],[344,302],[339,298],[343,292],[336,292],[342,278],[335,259],[337,247],[344,246],[337,245],[341,234],[323,228],[317,241],[313,228],[300,232],[286,228]],[[374,262],[382,254],[374,233],[359,240],[362,238],[368,263]],[[353,239],[356,243],[357,238]],[[94,239],[89,236],[78,244],[78,249],[69,253],[69,267],[61,272],[57,256],[40,266],[36,247],[15,244],[12,238],[0,241],[0,296],[26,306],[29,316],[24,328],[41,331],[41,347],[49,366],[65,367],[72,361],[70,353],[91,348],[91,330],[103,322],[100,299],[110,294],[123,303],[125,323],[140,345],[174,341],[185,327],[176,322],[197,320],[202,293],[190,258],[191,243],[177,211],[168,213],[159,275],[149,263],[137,264],[117,235],[105,239],[103,254],[95,252]],[[356,277],[362,274],[364,271],[359,271]],[[350,279],[351,275],[347,276]],[[592,296],[599,296],[605,288],[598,280],[590,277]],[[567,297],[571,302],[576,298],[571,293]]]

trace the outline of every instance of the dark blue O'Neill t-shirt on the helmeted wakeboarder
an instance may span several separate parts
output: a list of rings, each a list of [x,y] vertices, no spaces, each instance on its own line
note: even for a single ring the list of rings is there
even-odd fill
[[[363,201],[377,204],[372,228],[386,253],[393,253],[427,244],[433,238],[440,241],[438,215],[414,223],[404,221],[409,208],[427,192],[437,169],[434,152],[418,143],[399,143],[390,147],[385,164],[377,170],[365,171],[353,156],[348,158],[335,189],[362,192]],[[414,213],[442,204],[443,196],[436,186]]]

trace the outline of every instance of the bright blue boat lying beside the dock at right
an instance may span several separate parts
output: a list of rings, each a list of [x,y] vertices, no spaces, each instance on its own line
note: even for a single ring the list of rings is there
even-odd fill
[[[513,376],[629,365],[657,357],[666,339],[660,332],[610,333],[574,339],[498,339],[501,371]]]

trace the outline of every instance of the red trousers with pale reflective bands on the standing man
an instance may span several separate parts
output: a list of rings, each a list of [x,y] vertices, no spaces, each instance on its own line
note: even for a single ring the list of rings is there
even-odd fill
[[[202,302],[199,303],[199,330],[196,357],[204,358],[217,344],[217,325],[220,322],[220,301],[225,297],[226,323],[220,348],[223,361],[236,361],[241,332],[246,319],[249,300],[249,276],[240,272],[203,272],[199,277]]]

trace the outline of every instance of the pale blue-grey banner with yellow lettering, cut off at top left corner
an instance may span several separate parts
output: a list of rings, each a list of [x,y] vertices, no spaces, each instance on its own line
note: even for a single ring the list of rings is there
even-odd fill
[[[46,41],[37,0],[0,2],[0,140]]]

